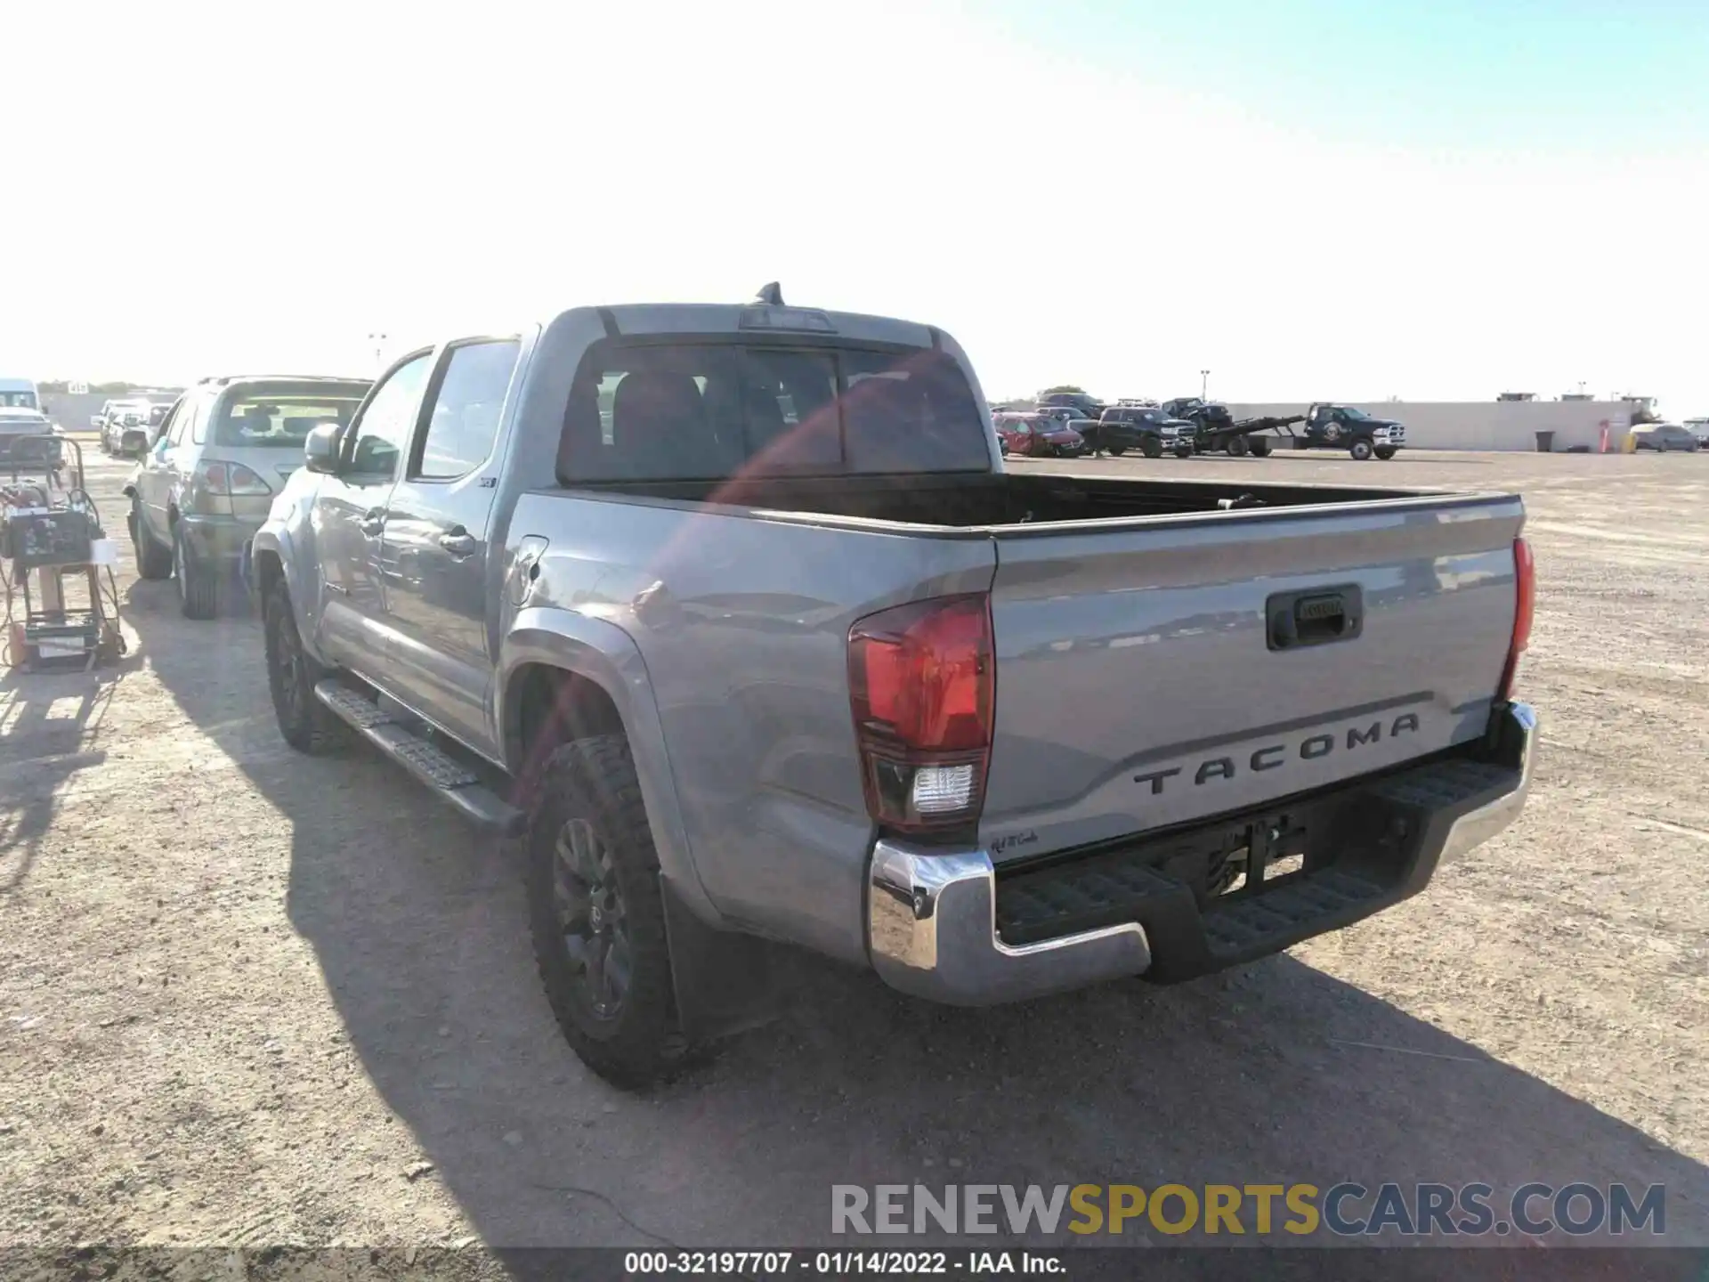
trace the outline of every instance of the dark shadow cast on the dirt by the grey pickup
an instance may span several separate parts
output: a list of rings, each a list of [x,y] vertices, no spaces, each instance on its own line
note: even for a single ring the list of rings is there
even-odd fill
[[[258,627],[186,624],[167,591],[138,585],[130,622],[243,761],[275,733]],[[244,706],[232,673],[210,694],[210,644]],[[367,752],[244,771],[292,822],[289,916],[354,1050],[490,1244],[825,1243],[834,1183],[1343,1178],[1665,1183],[1670,1239],[1709,1238],[1700,1164],[1290,957],[990,1012],[800,957],[783,1020],[624,1096],[557,1036],[514,846]]]

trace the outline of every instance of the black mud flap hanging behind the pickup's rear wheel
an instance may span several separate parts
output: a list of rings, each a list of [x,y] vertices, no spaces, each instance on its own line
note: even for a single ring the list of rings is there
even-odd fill
[[[769,1024],[783,1009],[774,957],[779,945],[757,935],[714,930],[660,877],[670,944],[677,1019],[689,1041],[713,1041]]]

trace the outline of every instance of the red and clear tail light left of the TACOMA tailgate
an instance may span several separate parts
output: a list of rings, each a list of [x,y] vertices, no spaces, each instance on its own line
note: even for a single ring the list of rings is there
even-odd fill
[[[978,820],[996,706],[991,605],[938,597],[849,629],[849,704],[866,810],[894,829]]]

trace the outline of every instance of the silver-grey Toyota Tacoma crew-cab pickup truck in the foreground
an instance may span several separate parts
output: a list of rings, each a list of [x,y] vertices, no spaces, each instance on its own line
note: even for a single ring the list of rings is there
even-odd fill
[[[786,945],[960,1005],[1178,981],[1514,819],[1518,496],[1007,473],[984,405],[947,333],[774,287],[412,352],[253,542],[279,726],[525,838],[624,1084]]]

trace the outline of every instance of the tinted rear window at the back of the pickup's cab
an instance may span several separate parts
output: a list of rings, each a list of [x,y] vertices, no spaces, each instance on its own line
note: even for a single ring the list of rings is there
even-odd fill
[[[571,390],[564,484],[986,472],[984,417],[928,349],[600,342]]]

